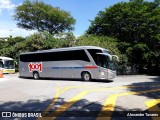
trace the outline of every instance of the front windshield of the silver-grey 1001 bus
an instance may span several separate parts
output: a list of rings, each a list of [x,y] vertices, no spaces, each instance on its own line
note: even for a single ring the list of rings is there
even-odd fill
[[[97,54],[97,65],[103,68],[116,70],[114,63],[106,55]]]

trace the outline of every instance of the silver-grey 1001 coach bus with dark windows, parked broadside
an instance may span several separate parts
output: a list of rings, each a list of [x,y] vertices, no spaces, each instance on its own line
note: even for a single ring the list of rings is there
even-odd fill
[[[115,55],[114,55],[115,56]],[[22,53],[20,77],[113,79],[116,70],[107,49],[78,46]],[[117,57],[118,58],[118,57]]]

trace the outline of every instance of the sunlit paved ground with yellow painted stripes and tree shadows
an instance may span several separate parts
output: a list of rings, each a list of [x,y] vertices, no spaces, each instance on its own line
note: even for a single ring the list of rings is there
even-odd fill
[[[84,82],[6,74],[0,78],[0,111],[2,119],[9,119],[4,111],[11,112],[10,119],[160,119],[160,77]]]

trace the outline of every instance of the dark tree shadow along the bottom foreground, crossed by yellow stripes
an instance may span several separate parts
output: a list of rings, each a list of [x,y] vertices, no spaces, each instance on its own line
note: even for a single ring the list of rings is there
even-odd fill
[[[44,112],[44,110],[49,106],[49,104],[52,102],[51,99],[47,99],[45,101],[39,101],[39,100],[28,100],[26,102],[6,102],[3,104],[0,104],[0,111],[8,111],[8,112]],[[72,105],[66,110],[63,108],[63,111],[58,111],[55,114],[55,111],[59,109],[61,105],[65,105],[67,102],[64,101],[64,98],[58,98],[56,103],[50,107],[49,111],[46,115],[46,117],[56,117],[56,120],[96,120],[102,105],[98,102],[91,102],[87,99],[82,99],[78,102],[73,101],[71,103]],[[67,103],[70,104],[70,103]],[[139,117],[126,117],[128,113],[130,113],[130,110],[126,110],[120,106],[115,106],[116,111],[104,111],[103,114],[101,114],[101,117],[110,116],[113,120],[139,120]],[[140,111],[139,109],[134,109],[133,111]],[[57,115],[58,114],[58,115]],[[142,119],[142,117],[140,117]],[[18,120],[36,120],[37,118],[18,118]],[[45,117],[44,117],[45,119]],[[2,119],[3,120],[3,119]],[[8,120],[8,119],[4,119]],[[151,120],[151,117],[147,117],[146,120]]]

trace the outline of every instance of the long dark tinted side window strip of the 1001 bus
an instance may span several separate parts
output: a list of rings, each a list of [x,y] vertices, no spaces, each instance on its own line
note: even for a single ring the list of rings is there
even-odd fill
[[[20,55],[20,61],[38,62],[38,61],[63,61],[63,60],[83,60],[89,61],[84,50],[60,51],[37,54]]]

